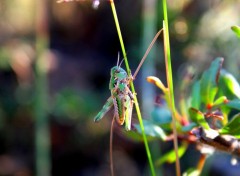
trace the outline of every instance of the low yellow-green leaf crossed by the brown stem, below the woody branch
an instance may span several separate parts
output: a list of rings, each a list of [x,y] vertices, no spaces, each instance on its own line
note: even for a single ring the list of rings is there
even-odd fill
[[[183,156],[183,154],[186,152],[188,147],[187,143],[182,143],[181,146],[179,146],[178,148],[178,157],[181,158]],[[167,162],[167,163],[173,163],[176,161],[176,154],[174,150],[171,150],[170,152],[164,154],[161,158],[159,158],[158,160],[156,160],[156,166],[160,166],[163,163]]]

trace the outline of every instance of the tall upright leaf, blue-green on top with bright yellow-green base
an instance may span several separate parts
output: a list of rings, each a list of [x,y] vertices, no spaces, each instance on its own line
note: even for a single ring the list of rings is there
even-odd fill
[[[200,80],[200,92],[201,92],[201,98],[202,102],[205,103],[205,105],[212,104],[214,101],[214,98],[217,94],[217,83],[218,83],[218,77],[219,72],[222,67],[223,58],[216,58],[212,63],[208,70],[206,70],[202,78]]]

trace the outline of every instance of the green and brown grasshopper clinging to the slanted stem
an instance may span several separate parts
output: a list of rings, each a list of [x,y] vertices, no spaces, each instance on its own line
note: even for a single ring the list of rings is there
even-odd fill
[[[109,89],[111,91],[111,97],[107,99],[102,110],[94,118],[95,122],[101,120],[104,115],[114,106],[114,117],[119,125],[123,125],[125,122],[125,129],[131,130],[131,119],[133,109],[133,94],[129,89],[129,83],[133,79],[132,76],[128,76],[127,72],[120,67],[119,55],[117,66],[111,69],[111,78],[109,83]]]

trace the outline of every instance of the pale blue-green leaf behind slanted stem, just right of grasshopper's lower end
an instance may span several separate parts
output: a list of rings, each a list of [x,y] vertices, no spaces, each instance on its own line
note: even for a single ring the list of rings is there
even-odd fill
[[[158,125],[155,125],[154,123],[152,123],[149,120],[143,120],[143,125],[144,125],[144,132],[146,135],[152,136],[152,137],[157,137],[162,140],[166,140],[167,136],[166,136],[165,132]],[[138,133],[142,133],[140,125],[134,124],[134,127],[136,128]]]

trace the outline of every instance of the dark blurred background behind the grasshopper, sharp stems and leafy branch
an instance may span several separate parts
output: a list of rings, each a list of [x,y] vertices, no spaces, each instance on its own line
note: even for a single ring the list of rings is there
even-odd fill
[[[109,72],[121,48],[109,2],[97,2],[0,1],[0,175],[110,174],[113,111],[97,124],[93,118],[110,96]],[[162,1],[116,0],[115,5],[133,73],[162,28]],[[185,71],[201,73],[217,56],[240,80],[240,40],[231,31],[240,24],[240,1],[169,0],[168,8],[176,97]],[[144,118],[160,93],[146,83],[149,75],[165,83],[162,37],[135,81]],[[151,147],[164,151],[172,144],[157,141]],[[192,148],[183,170],[197,163]],[[143,143],[117,125],[113,150],[116,175],[148,175]],[[239,173],[230,156],[215,157],[208,175]],[[174,165],[164,168],[162,175],[175,175]]]

